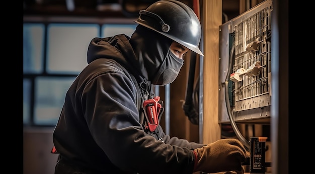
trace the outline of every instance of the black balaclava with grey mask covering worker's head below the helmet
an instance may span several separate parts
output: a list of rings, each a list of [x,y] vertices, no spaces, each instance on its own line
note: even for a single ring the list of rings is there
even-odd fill
[[[129,40],[140,67],[141,74],[154,85],[172,83],[181,67],[183,59],[177,58],[171,51],[173,40],[138,25]]]

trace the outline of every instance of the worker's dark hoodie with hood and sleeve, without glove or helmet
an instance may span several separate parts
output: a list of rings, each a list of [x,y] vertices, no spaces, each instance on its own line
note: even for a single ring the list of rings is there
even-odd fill
[[[138,84],[150,83],[171,43],[139,26],[131,38],[122,34],[91,41],[89,64],[67,91],[53,132],[60,153],[55,173],[193,172],[191,149],[204,144],[171,138],[160,125],[146,133],[138,105],[143,102]]]

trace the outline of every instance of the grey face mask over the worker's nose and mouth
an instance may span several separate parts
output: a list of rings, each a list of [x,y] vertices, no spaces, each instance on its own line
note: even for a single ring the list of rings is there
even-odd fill
[[[176,57],[169,51],[151,83],[162,86],[172,83],[178,76],[183,64],[183,59]]]

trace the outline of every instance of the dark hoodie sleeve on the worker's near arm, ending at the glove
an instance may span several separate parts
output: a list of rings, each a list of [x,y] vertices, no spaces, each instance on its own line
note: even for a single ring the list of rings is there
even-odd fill
[[[87,83],[82,95],[84,115],[98,146],[125,171],[192,173],[194,143],[169,137],[170,143],[164,143],[146,136],[139,123],[135,95],[132,80],[115,67]]]

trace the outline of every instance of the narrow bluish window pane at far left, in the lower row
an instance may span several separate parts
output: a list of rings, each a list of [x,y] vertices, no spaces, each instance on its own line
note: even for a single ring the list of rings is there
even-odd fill
[[[30,123],[31,80],[23,79],[23,124]]]

